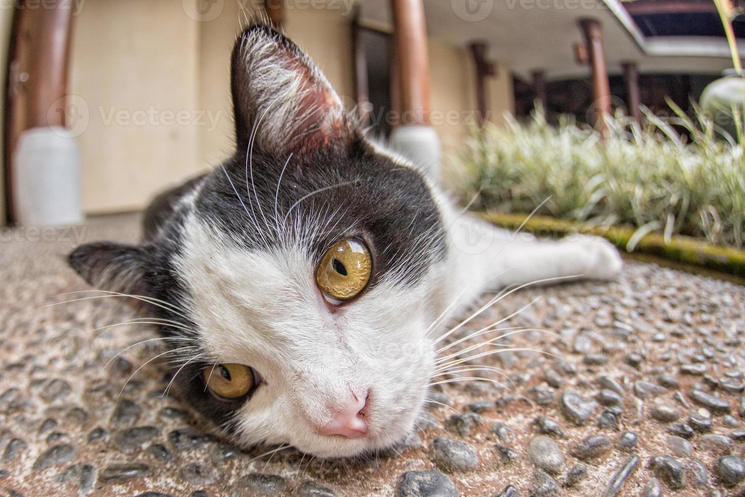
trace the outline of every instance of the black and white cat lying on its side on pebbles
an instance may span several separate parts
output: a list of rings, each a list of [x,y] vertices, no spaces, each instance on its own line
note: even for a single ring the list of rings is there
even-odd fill
[[[183,399],[235,443],[390,446],[425,402],[440,317],[485,290],[621,269],[599,238],[516,238],[462,215],[271,28],[238,38],[231,89],[234,155],[157,197],[140,244],[69,262],[159,317]]]

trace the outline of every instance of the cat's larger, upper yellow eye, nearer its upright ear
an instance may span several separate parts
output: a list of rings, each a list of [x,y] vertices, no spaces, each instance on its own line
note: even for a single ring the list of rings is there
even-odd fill
[[[326,251],[318,269],[316,281],[326,297],[351,300],[370,281],[373,258],[361,238],[343,238]]]

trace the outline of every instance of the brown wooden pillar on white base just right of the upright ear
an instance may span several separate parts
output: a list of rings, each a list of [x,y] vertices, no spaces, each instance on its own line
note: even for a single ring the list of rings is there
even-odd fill
[[[429,121],[429,61],[422,0],[390,0],[399,76],[400,124]]]

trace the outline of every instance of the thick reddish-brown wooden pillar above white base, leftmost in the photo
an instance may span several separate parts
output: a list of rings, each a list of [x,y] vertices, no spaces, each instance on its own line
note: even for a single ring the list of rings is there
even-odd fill
[[[32,127],[65,126],[73,9],[64,0],[45,8],[18,4],[8,57],[5,96],[4,166],[7,221],[15,221],[13,152],[20,134]],[[48,7],[48,8],[47,8]]]

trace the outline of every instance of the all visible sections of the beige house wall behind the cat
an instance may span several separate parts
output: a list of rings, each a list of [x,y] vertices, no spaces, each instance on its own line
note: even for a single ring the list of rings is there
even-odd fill
[[[181,0],[86,0],[75,20],[71,75],[71,92],[89,109],[78,137],[86,212],[141,209],[156,191],[229,155],[229,54],[253,4],[224,0],[218,16],[197,22]],[[353,104],[351,17],[308,5],[285,10],[285,30]],[[466,49],[436,40],[430,60],[433,121],[448,153],[475,118],[474,69]],[[509,74],[500,70],[487,88],[499,121],[513,105]],[[178,111],[197,121],[165,122]],[[144,123],[127,121],[137,113],[150,114]],[[107,122],[112,115],[119,120]]]

